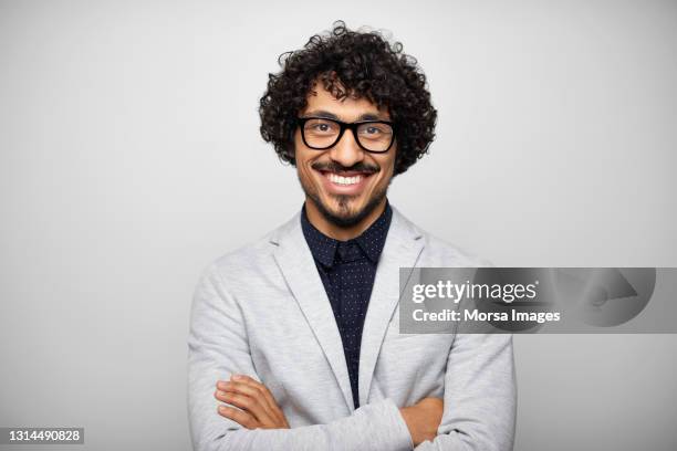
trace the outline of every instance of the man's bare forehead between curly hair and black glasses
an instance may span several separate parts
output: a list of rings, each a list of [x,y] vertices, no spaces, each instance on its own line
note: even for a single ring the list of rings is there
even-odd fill
[[[333,113],[340,119],[352,122],[364,116],[365,114],[377,116],[382,119],[389,119],[388,111],[385,107],[378,108],[376,104],[364,97],[346,96],[341,99],[334,97],[324,88],[322,83],[315,83],[306,97],[305,108],[301,114],[311,114],[313,112]]]

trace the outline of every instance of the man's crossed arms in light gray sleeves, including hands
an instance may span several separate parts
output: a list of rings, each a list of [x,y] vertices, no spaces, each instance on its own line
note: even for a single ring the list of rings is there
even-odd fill
[[[188,339],[196,451],[512,449],[510,335],[458,335],[447,357],[444,401],[426,398],[400,409],[385,398],[324,424],[290,429],[270,390],[257,380],[241,315],[218,274],[208,271],[195,294]],[[227,374],[248,377],[221,380]],[[225,410],[216,408],[215,397]]]

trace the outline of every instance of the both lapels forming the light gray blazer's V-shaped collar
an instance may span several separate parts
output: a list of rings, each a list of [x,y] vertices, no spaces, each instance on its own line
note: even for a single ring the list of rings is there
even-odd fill
[[[393,209],[390,228],[376,269],[362,333],[358,375],[361,405],[367,401],[378,353],[402,294],[399,269],[414,268],[424,248],[423,233],[397,209],[390,208]],[[341,335],[313,255],[301,230],[301,213],[296,213],[275,230],[271,234],[270,242],[275,247],[273,251],[275,262],[324,352],[336,382],[343,391],[346,406],[352,411],[353,395]]]

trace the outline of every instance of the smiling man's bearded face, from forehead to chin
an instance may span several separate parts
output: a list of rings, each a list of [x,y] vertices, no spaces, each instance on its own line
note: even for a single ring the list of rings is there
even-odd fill
[[[308,96],[306,107],[299,117],[329,117],[353,123],[360,120],[390,120],[385,108],[365,98],[351,96],[336,99],[321,84]],[[351,130],[325,150],[308,147],[301,129],[294,134],[296,170],[299,180],[310,202],[330,222],[352,227],[382,204],[395,168],[397,143],[388,151],[374,154],[357,144]]]

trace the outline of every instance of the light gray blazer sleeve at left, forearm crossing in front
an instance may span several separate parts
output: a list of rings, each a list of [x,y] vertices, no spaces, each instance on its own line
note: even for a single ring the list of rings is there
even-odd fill
[[[188,334],[188,416],[196,451],[412,450],[399,409],[390,399],[366,405],[327,424],[249,430],[217,412],[217,380],[256,374],[237,302],[215,265],[200,277]]]

